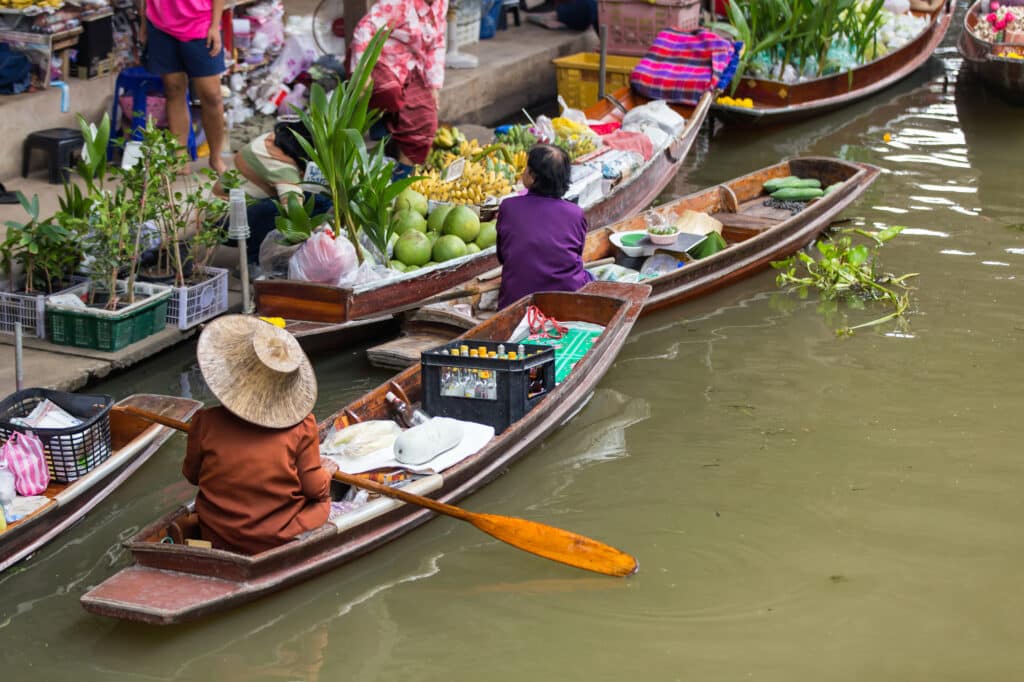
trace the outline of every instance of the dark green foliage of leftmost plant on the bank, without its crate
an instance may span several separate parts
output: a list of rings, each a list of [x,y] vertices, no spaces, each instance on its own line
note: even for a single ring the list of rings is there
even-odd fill
[[[82,260],[82,249],[78,235],[54,218],[39,217],[39,195],[32,200],[17,193],[17,201],[29,215],[28,222],[8,220],[7,237],[0,245],[0,259],[10,275],[11,289],[14,284],[14,263],[25,269],[25,292],[42,290],[52,294],[61,283],[68,281]]]

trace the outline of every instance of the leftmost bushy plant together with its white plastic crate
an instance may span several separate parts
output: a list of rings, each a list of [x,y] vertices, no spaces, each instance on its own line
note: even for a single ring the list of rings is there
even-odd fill
[[[46,338],[46,296],[88,289],[86,279],[73,274],[82,248],[74,228],[61,225],[56,216],[39,217],[39,195],[30,201],[18,191],[17,200],[29,221],[8,220],[0,244],[0,263],[9,278],[9,291],[0,292],[0,331],[13,332],[20,324]]]

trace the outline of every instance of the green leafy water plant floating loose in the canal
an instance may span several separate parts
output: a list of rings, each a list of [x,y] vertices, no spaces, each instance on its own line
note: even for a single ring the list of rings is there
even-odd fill
[[[819,256],[817,260],[802,251],[785,260],[773,262],[772,267],[781,270],[776,276],[776,284],[791,292],[798,292],[801,297],[806,297],[808,291],[815,288],[825,301],[847,301],[856,307],[864,301],[877,301],[893,308],[893,312],[877,319],[837,330],[841,335],[900,317],[909,305],[905,283],[918,273],[901,276],[882,273],[878,267],[878,247],[902,230],[901,225],[874,233],[859,228],[841,230],[836,239],[815,245]],[[853,235],[870,240],[876,248],[853,244]]]

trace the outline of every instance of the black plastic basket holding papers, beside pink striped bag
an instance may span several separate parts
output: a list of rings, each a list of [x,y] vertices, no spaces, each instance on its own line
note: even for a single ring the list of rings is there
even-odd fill
[[[10,421],[15,417],[28,417],[37,404],[46,399],[81,419],[82,423],[67,429],[33,429]],[[6,441],[15,431],[32,431],[43,443],[46,462],[50,465],[50,480],[70,483],[111,456],[110,413],[113,404],[114,398],[110,395],[27,388],[0,402],[0,441]]]

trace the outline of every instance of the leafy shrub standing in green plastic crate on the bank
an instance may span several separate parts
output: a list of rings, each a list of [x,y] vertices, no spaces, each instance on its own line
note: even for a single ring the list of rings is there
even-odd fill
[[[110,118],[99,126],[79,125],[85,150],[77,170],[85,183],[82,205],[66,190],[72,206],[61,212],[66,224],[85,235],[87,266],[92,274],[85,301],[49,297],[47,327],[54,343],[118,350],[164,328],[169,287],[136,283],[139,230],[153,198],[150,165],[114,171],[106,163]],[[117,180],[117,181],[114,181]],[[128,270],[128,279],[122,272]]]

